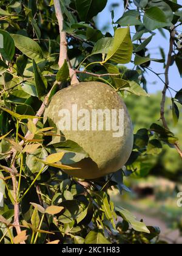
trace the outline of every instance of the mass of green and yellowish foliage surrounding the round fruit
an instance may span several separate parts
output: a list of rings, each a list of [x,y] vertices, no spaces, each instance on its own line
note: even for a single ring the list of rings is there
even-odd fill
[[[150,69],[151,62],[161,63],[164,73],[177,65],[182,74],[181,41],[174,33],[181,25],[182,5],[175,0],[123,1],[124,13],[113,21],[112,37],[98,30],[93,19],[107,1],[60,3],[69,65],[79,81],[105,82],[124,98],[135,126],[133,152],[126,168],[87,181],[89,187],[61,171],[72,168],[68,154],[79,161],[87,152],[73,141],[50,144],[57,136],[53,124],[49,127],[42,118],[36,125],[32,121],[45,99],[70,84],[67,63],[61,69],[58,66],[60,36],[54,3],[2,0],[0,243],[161,243],[157,227],[136,221],[132,213],[113,204],[108,191],[129,191],[124,176],[145,177],[151,170],[156,174],[160,169],[164,176],[181,180],[181,158],[171,152],[178,145],[178,135],[181,139],[182,89],[175,91],[163,81],[166,90],[175,91],[175,98],[166,101],[169,127],[163,127],[161,94],[149,98],[145,74],[154,72],[161,79]],[[111,15],[114,20],[114,12]],[[130,29],[135,30],[132,38]],[[150,56],[147,45],[155,40],[155,29],[170,34],[170,56],[162,48],[161,59]],[[133,69],[124,66],[129,62]]]

